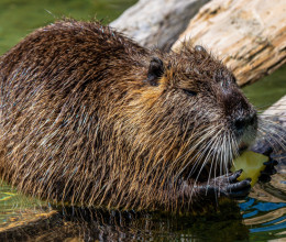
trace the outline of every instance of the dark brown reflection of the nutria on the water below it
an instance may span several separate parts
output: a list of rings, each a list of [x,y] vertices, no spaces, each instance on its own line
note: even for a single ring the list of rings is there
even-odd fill
[[[2,232],[0,238],[14,241],[233,241],[249,237],[237,206],[208,217],[116,211],[110,213],[69,208],[53,215],[48,222],[38,221],[36,231],[34,228],[35,224]]]

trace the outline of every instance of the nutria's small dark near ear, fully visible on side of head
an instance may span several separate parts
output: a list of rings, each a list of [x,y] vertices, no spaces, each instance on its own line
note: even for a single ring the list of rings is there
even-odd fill
[[[163,76],[163,74],[164,74],[163,62],[157,57],[152,58],[148,66],[148,74],[147,74],[146,81],[150,82],[150,85],[152,86],[157,86],[158,79]]]

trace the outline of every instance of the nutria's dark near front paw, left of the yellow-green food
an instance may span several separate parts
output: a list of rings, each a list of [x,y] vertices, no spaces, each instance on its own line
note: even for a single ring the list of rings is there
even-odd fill
[[[223,175],[213,178],[209,183],[201,185],[198,191],[201,196],[243,199],[250,194],[251,178],[239,182],[238,177],[241,173],[242,169],[228,176]]]

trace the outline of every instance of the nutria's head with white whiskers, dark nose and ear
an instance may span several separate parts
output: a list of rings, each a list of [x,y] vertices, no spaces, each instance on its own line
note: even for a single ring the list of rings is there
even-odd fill
[[[196,46],[152,57],[145,76],[129,106],[132,151],[144,151],[144,165],[156,167],[156,174],[162,168],[164,177],[197,174],[204,180],[215,167],[226,174],[257,128],[256,111],[232,73]]]

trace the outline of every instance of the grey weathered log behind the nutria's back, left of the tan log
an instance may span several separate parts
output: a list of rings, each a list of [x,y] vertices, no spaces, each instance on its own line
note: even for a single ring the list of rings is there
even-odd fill
[[[110,25],[146,47],[169,50],[209,0],[140,0]]]

